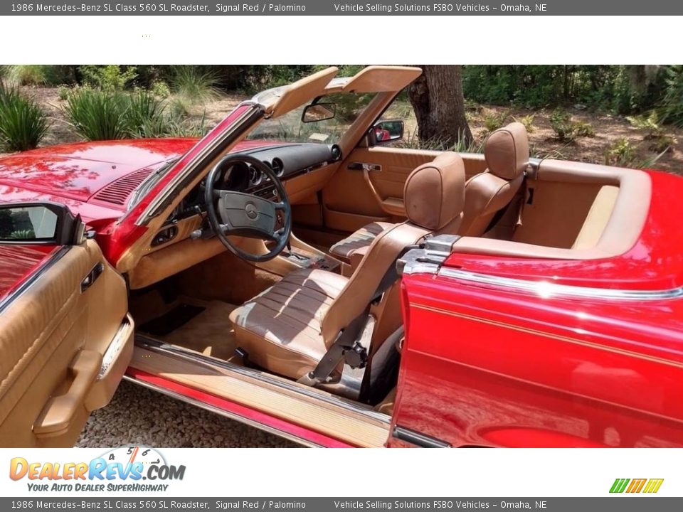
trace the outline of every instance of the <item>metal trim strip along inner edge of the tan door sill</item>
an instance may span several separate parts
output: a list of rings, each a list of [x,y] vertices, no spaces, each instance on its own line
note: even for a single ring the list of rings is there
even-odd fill
[[[385,415],[381,412],[371,409],[369,406],[364,407],[356,402],[351,402],[344,398],[340,398],[334,395],[330,395],[327,391],[317,390],[315,388],[309,388],[304,385],[293,383],[287,380],[280,380],[277,378],[272,378],[268,373],[263,373],[259,370],[253,370],[252,368],[245,368],[243,366],[238,366],[234,363],[229,363],[228,361],[222,361],[221,359],[212,358],[210,356],[204,356],[201,353],[193,352],[182,348],[181,346],[168,345],[162,341],[150,338],[144,334],[135,334],[135,344],[142,348],[146,348],[149,351],[161,352],[171,354],[172,356],[179,356],[182,358],[192,359],[198,363],[203,363],[208,366],[218,366],[223,368],[223,370],[228,370],[239,375],[244,375],[246,377],[253,378],[255,380],[260,380],[263,383],[268,383],[270,385],[283,388],[288,391],[293,391],[300,395],[305,395],[309,398],[314,398],[322,402],[326,402],[330,405],[335,405],[342,409],[346,409],[349,412],[355,412],[359,415],[364,415],[370,417],[373,420],[384,423],[388,425],[391,423],[391,417]]]

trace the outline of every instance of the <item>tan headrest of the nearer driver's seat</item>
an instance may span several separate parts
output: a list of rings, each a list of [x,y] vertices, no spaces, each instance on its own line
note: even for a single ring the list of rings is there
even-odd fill
[[[403,190],[411,223],[443,228],[465,208],[465,164],[457,153],[443,153],[408,176]]]

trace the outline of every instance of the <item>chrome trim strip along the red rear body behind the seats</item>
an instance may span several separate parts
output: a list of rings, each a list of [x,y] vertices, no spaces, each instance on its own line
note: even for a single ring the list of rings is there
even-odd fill
[[[438,269],[436,265],[406,265],[404,274],[436,274],[439,276],[452,277],[477,284],[488,284],[495,287],[504,287],[529,292],[539,295],[544,299],[552,297],[575,297],[580,299],[612,299],[621,301],[655,301],[670,300],[683,297],[683,287],[664,290],[633,290],[633,289],[610,289],[580,287],[571,284],[556,284],[551,281],[528,281],[512,277],[491,276],[477,272],[467,272],[448,267]]]

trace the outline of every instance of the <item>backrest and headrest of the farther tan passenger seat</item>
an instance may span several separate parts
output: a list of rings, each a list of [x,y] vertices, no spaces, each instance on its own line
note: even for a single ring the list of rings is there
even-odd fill
[[[465,184],[465,212],[458,235],[483,235],[494,215],[519,191],[529,164],[529,138],[524,124],[514,122],[490,134],[484,156],[486,171]]]

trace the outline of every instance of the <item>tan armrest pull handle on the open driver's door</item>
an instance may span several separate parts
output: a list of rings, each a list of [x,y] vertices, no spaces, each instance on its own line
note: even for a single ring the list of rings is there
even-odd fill
[[[97,378],[102,366],[102,355],[95,351],[80,351],[69,365],[68,372],[73,375],[69,389],[63,395],[53,396],[33,423],[33,434],[37,437],[52,437],[67,431],[80,408],[85,396]]]

